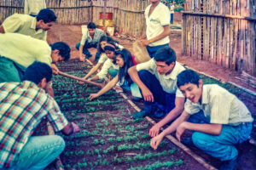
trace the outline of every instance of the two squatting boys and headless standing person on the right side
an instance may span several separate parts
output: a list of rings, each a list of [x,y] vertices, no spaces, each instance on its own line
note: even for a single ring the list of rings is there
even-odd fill
[[[133,118],[161,118],[149,130],[154,150],[167,134],[175,131],[181,141],[187,129],[194,133],[183,143],[223,161],[220,169],[235,169],[239,159],[236,145],[247,140],[252,131],[250,111],[234,94],[216,84],[203,85],[195,71],[186,70],[176,61],[174,50],[168,47],[168,8],[159,0],[150,2],[145,10],[146,34],[142,37],[147,39],[142,42],[153,59],[128,71],[144,102],[144,109]],[[160,128],[170,123],[160,133]]]

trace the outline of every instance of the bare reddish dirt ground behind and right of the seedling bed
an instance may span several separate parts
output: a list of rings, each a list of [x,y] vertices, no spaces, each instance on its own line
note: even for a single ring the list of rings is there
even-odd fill
[[[174,14],[174,23],[181,24],[182,15],[180,13]],[[58,32],[58,33],[56,33]],[[64,41],[67,42],[72,48],[71,56],[72,59],[76,59],[79,57],[78,50],[75,48],[75,44],[80,41],[82,36],[82,31],[80,26],[63,26],[63,25],[55,25],[53,29],[48,32],[48,42],[55,41]],[[122,39],[118,37],[113,37],[118,40],[121,45],[125,48],[129,49],[131,53],[132,50],[132,42],[127,39]],[[236,79],[239,77],[239,73],[237,71],[230,71],[229,69],[223,68],[219,65],[214,65],[209,63],[208,61],[193,59],[189,56],[183,56],[181,54],[182,51],[182,42],[181,42],[181,31],[171,31],[170,34],[170,47],[173,48],[177,54],[177,61],[183,63],[184,65],[188,65],[189,67],[195,69],[196,71],[201,71],[209,76],[216,77],[221,82],[235,82],[241,87],[248,88],[254,92],[256,89],[247,87],[246,84],[240,82]]]

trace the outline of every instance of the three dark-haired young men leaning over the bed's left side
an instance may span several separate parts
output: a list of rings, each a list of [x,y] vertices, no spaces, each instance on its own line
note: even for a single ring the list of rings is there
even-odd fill
[[[0,169],[44,169],[61,154],[60,136],[32,136],[44,117],[55,132],[79,131],[53,98],[55,64],[70,58],[67,43],[46,42],[55,20],[43,8],[37,15],[13,14],[0,26]]]

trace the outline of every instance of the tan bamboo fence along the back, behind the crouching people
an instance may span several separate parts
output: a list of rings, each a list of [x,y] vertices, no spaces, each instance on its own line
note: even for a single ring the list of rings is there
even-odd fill
[[[113,26],[134,37],[145,30],[144,10],[149,0],[107,0],[106,13],[113,13]],[[46,6],[55,11],[58,23],[82,25],[90,21],[99,24],[104,0],[46,0]],[[9,15],[24,13],[24,0],[0,0],[0,23]]]

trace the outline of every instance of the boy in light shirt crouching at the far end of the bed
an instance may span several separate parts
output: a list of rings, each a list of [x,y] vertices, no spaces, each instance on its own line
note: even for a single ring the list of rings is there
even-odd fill
[[[93,22],[87,25],[87,31],[83,34],[81,42],[77,43],[76,48],[79,50],[79,59],[83,61],[89,59],[92,55],[88,48],[96,48],[100,38],[103,36],[104,31],[96,28]],[[85,59],[84,59],[85,54]]]

